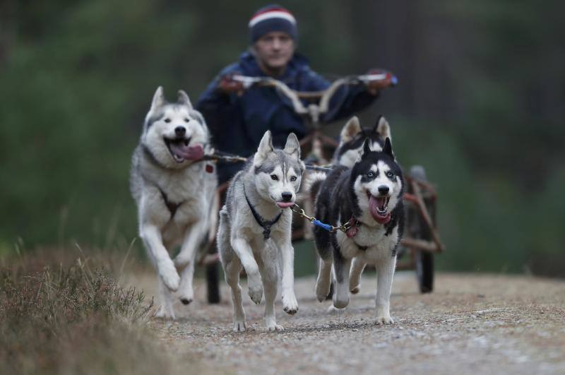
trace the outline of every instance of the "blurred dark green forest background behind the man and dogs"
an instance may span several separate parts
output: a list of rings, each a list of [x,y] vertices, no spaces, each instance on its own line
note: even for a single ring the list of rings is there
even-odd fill
[[[385,114],[400,162],[436,184],[439,268],[565,275],[561,1],[279,3],[314,70],[398,75],[361,117]],[[125,253],[129,162],[155,88],[196,101],[265,4],[0,1],[0,255]]]

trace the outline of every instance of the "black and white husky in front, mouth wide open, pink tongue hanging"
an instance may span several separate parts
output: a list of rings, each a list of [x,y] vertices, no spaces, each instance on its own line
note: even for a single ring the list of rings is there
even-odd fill
[[[367,263],[377,271],[376,322],[393,323],[389,299],[396,266],[396,247],[403,234],[403,174],[393,155],[390,139],[382,150],[371,150],[365,140],[352,167],[341,165],[329,174],[309,181],[314,216],[338,227],[349,222],[346,233],[314,227],[316,249],[321,257],[316,298],[328,296],[331,270],[336,278],[333,305],[343,309],[349,292],[357,292]]]

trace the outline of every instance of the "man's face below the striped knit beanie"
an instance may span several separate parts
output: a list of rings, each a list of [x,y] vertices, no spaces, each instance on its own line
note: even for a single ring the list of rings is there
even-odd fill
[[[266,69],[279,71],[287,66],[295,53],[295,41],[285,32],[269,32],[255,42],[255,52]]]

